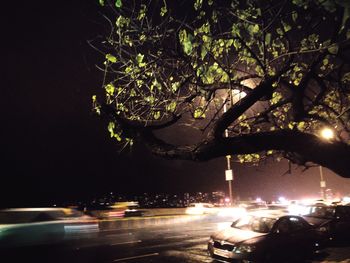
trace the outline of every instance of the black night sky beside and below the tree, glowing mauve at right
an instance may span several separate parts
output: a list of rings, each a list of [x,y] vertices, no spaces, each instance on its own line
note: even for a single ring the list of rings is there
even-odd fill
[[[8,1],[10,2],[10,1]],[[12,2],[12,1],[11,1]],[[65,5],[65,2],[72,2]],[[87,44],[103,28],[97,0],[25,1],[2,7],[1,206],[94,198],[103,193],[227,190],[224,158],[165,161],[142,146],[118,153],[91,112],[101,57]],[[234,195],[316,196],[319,173],[286,162],[233,164]],[[325,170],[328,187],[350,193],[350,179]]]

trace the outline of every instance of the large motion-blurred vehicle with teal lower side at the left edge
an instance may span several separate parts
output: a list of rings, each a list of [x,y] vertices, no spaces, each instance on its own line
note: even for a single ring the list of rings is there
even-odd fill
[[[69,208],[11,208],[0,210],[0,247],[43,245],[95,236],[94,218]]]

